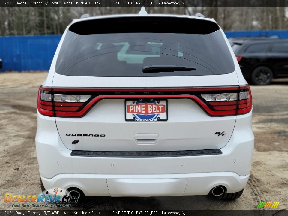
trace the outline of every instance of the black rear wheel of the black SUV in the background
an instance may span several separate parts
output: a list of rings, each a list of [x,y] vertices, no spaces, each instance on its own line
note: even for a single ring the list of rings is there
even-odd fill
[[[256,67],[251,73],[251,81],[255,85],[269,85],[273,79],[273,72],[269,67]]]

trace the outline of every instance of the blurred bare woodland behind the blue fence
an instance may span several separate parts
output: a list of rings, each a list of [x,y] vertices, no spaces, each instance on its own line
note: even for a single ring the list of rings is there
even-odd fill
[[[229,0],[227,0],[228,2]],[[209,7],[146,7],[148,13],[193,15],[214,18],[224,30],[288,28],[285,0],[280,7],[226,7],[226,1],[211,0]],[[82,14],[138,13],[140,7],[0,7],[0,35],[62,34],[66,26]]]

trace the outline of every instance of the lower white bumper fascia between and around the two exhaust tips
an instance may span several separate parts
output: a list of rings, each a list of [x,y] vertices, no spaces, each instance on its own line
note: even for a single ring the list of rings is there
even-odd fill
[[[222,185],[226,193],[242,190],[249,175],[232,172],[161,174],[161,175],[107,175],[59,174],[51,179],[41,176],[46,189],[77,187],[86,196],[191,196],[207,195]]]

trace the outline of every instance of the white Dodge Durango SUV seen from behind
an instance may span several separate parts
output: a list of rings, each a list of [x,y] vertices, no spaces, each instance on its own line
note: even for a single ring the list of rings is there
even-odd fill
[[[241,196],[250,88],[214,19],[73,20],[39,88],[42,186],[85,196]]]

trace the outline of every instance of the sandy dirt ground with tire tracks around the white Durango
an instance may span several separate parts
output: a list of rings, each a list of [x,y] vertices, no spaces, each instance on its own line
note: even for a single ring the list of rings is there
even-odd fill
[[[4,193],[40,193],[35,151],[38,87],[47,73],[0,74],[0,209],[14,209]],[[256,209],[260,201],[288,207],[288,79],[251,86],[255,150],[252,171],[241,198],[207,196],[91,197],[74,209]],[[98,204],[97,204],[98,203]],[[18,208],[21,209],[21,208]]]

